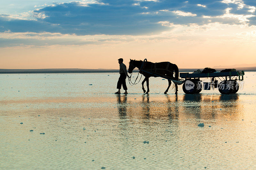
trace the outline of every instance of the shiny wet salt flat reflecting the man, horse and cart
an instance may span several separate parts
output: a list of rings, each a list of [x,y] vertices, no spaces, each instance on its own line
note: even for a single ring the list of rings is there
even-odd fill
[[[233,95],[116,95],[118,76],[0,74],[0,169],[256,168],[256,72]]]

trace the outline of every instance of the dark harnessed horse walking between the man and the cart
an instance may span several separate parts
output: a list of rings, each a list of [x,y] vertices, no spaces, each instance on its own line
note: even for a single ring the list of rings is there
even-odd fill
[[[140,74],[145,76],[145,79],[142,81],[142,90],[144,93],[148,94],[149,92],[149,86],[148,86],[148,78],[149,77],[159,77],[158,75],[164,75],[168,77],[174,77],[176,79],[179,78],[179,68],[177,67],[176,64],[172,64],[170,62],[159,62],[159,63],[152,63],[148,61],[142,61],[142,60],[131,60],[129,62],[129,68],[128,68],[128,73],[132,73],[133,69],[137,67],[140,69]],[[152,74],[151,74],[152,73]],[[174,78],[173,77],[173,78]],[[147,92],[144,89],[144,82],[147,82]],[[169,85],[168,88],[165,90],[164,94],[167,94],[172,81],[168,79]],[[175,84],[175,83],[174,83]],[[175,94],[178,93],[178,85],[175,84]]]

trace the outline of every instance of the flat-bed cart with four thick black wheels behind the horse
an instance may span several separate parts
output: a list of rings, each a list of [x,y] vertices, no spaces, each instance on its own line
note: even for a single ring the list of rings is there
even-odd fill
[[[183,91],[186,94],[200,93],[203,88],[203,83],[200,78],[211,78],[211,82],[204,82],[204,89],[210,90],[212,88],[218,88],[221,94],[236,93],[239,89],[237,80],[244,80],[244,71],[232,71],[232,72],[218,72],[218,73],[180,73],[180,78],[185,78],[183,83]],[[220,83],[216,78],[220,79]],[[238,78],[238,79],[237,79]]]

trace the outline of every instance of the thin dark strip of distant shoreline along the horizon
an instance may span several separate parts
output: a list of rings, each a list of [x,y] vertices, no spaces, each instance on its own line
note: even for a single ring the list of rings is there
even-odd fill
[[[203,68],[180,68],[179,71],[193,72],[197,69],[201,71]],[[225,68],[217,68],[217,71]],[[237,71],[256,71],[256,67],[240,67],[235,68]],[[138,72],[138,69],[133,72]],[[63,69],[0,69],[0,74],[19,74],[19,73],[117,73],[118,69],[79,69],[79,68],[63,68]]]

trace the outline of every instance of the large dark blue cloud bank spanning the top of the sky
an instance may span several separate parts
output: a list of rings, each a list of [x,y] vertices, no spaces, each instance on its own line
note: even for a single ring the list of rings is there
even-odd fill
[[[193,25],[211,23],[256,25],[256,3],[252,0],[205,0],[204,4],[198,4],[198,2],[198,0],[186,2],[180,0],[80,0],[42,4],[28,12],[0,14],[0,32],[9,32],[9,34],[30,32],[40,36],[43,36],[41,34],[43,32],[59,33],[61,37],[63,35],[77,37],[77,43],[74,42],[74,44],[81,42],[83,44],[91,41],[80,41],[80,36],[159,35],[161,32],[171,32],[178,25],[183,28],[191,27],[191,29],[195,29]],[[35,40],[29,37],[27,41],[27,38],[23,40],[26,42]],[[9,38],[5,38],[5,41],[6,39]],[[51,41],[54,42],[52,39]],[[93,41],[93,43],[103,41]]]

